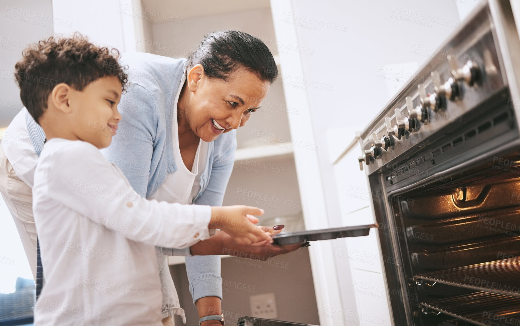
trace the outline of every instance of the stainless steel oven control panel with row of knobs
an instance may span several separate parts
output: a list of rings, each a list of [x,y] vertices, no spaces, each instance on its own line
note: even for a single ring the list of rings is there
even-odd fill
[[[426,64],[363,133],[360,169],[389,171],[441,137],[448,125],[463,128],[474,108],[503,92],[505,78],[490,25],[480,25],[463,45],[450,45],[446,57]]]

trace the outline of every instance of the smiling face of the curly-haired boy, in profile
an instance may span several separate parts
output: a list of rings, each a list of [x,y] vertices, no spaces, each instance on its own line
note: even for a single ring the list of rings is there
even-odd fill
[[[121,121],[121,89],[118,77],[105,76],[88,84],[82,92],[72,90],[70,127],[78,139],[99,149],[110,145]]]

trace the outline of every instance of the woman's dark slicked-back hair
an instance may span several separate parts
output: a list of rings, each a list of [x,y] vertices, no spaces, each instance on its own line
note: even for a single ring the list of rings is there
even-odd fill
[[[239,69],[249,70],[269,83],[278,75],[275,59],[264,42],[248,33],[233,30],[204,37],[197,50],[188,56],[187,71],[199,63],[206,76],[225,81]]]

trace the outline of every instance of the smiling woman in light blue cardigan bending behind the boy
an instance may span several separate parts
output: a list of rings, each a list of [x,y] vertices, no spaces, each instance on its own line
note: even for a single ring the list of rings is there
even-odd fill
[[[205,37],[188,59],[125,53],[121,63],[128,65],[132,85],[119,103],[122,120],[112,145],[103,150],[105,157],[118,165],[132,187],[148,199],[222,205],[237,147],[235,129],[243,126],[258,109],[278,74],[267,46],[249,34],[229,30]],[[25,160],[35,161],[45,135],[29,114],[17,118],[9,128],[28,135],[25,143],[30,139],[32,146],[23,148],[28,158]],[[103,132],[96,129],[98,126],[87,127],[92,132]],[[27,129],[21,132],[23,128]],[[6,143],[4,149],[7,159],[3,160],[7,165],[1,172],[3,176],[12,175],[9,165],[12,147]],[[21,152],[17,155],[20,157]],[[14,170],[17,172],[16,166]],[[20,167],[19,170],[24,172],[18,179],[19,187],[7,187],[2,181],[5,178],[0,178],[4,198],[10,195],[29,198],[27,188],[32,182],[22,185],[27,178],[27,168]],[[8,205],[19,219],[17,227],[25,242],[25,251],[28,252],[28,248],[32,251],[36,238],[32,214],[11,207],[20,206],[20,203],[11,201]],[[265,229],[276,233],[282,227]],[[22,234],[24,232],[27,234]],[[165,254],[186,256],[189,289],[199,317],[204,317],[201,325],[206,326],[223,324],[218,316],[222,314],[219,254],[237,251],[266,258],[297,247],[299,245],[238,245],[226,233],[217,230],[214,237],[187,249],[157,248],[163,323],[171,324],[174,314],[181,315],[185,321]],[[28,253],[28,257],[31,254]]]

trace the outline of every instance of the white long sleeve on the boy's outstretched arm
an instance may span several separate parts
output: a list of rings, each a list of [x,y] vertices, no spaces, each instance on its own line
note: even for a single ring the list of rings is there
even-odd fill
[[[125,234],[128,239],[185,248],[210,237],[210,206],[142,198],[92,144],[74,141],[40,164],[47,167],[49,197],[110,229],[120,223],[137,226]]]

